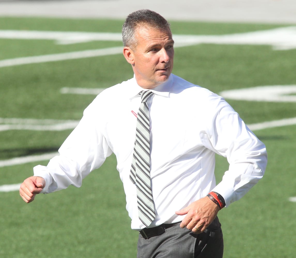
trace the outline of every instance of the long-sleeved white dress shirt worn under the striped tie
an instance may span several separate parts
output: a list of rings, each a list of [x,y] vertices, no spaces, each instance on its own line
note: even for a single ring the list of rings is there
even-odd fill
[[[138,112],[143,90],[132,78],[100,93],[47,166],[34,167],[46,181],[42,192],[81,186],[82,179],[115,153],[126,193],[131,228],[145,226],[138,217],[136,186],[129,179]],[[175,223],[175,214],[210,191],[226,206],[240,199],[266,168],[265,145],[220,96],[171,74],[151,90],[151,183],[156,218],[153,226]],[[216,186],[215,153],[227,158],[229,170]]]

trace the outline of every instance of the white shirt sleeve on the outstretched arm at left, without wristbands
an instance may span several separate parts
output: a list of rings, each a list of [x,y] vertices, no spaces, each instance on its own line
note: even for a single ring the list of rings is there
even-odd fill
[[[52,158],[47,166],[34,167],[34,175],[46,181],[43,193],[65,189],[69,185],[80,187],[82,179],[111,155],[112,151],[91,114],[91,108],[87,108],[78,126],[59,148],[59,156]]]

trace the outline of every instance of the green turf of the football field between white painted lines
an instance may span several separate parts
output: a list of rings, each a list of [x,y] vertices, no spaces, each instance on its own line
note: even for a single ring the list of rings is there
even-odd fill
[[[0,17],[0,30],[120,33],[122,24],[122,20]],[[279,27],[285,26],[171,21],[173,34],[188,35]],[[20,57],[120,46],[120,41],[110,40],[61,45],[55,40],[0,38],[0,65],[3,60]],[[204,43],[176,47],[173,73],[216,93],[296,85],[295,59],[296,49]],[[3,161],[56,152],[72,130],[38,130],[32,124],[43,119],[78,121],[95,97],[62,94],[62,88],[106,88],[132,76],[131,67],[120,53],[0,66],[0,186],[21,183],[32,175],[33,166],[48,162],[3,165]],[[293,95],[295,92],[290,93]],[[250,125],[296,117],[295,101],[227,100]],[[23,120],[12,122],[12,118]],[[36,120],[33,123],[28,119]],[[12,123],[28,123],[32,128],[5,129]],[[295,257],[296,203],[289,201],[296,196],[295,130],[295,123],[254,130],[266,144],[268,166],[263,179],[244,198],[219,212],[224,257]],[[227,161],[217,157],[217,181],[226,169]],[[0,195],[0,257],[136,257],[138,234],[130,229],[114,155],[84,179],[80,189],[69,187],[39,195],[30,204],[25,204],[17,191]]]

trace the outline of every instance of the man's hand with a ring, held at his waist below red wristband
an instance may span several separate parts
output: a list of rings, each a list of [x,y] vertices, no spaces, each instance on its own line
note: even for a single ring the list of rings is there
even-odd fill
[[[205,231],[208,225],[216,218],[220,208],[209,197],[204,197],[183,210],[176,211],[177,215],[186,215],[180,227],[187,228],[194,233],[200,234]]]

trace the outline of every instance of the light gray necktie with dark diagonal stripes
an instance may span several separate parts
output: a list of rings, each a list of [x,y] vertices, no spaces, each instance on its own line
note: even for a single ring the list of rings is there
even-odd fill
[[[130,179],[137,188],[139,219],[148,227],[155,219],[150,180],[149,109],[146,101],[153,93],[142,91],[142,102],[137,116],[136,140],[133,149]]]

